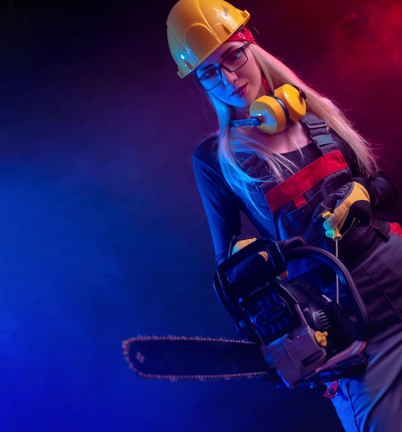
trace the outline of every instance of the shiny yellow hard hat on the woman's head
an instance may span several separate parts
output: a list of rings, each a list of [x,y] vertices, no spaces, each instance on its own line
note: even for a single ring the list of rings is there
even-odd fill
[[[170,11],[168,44],[183,78],[247,23],[250,14],[223,0],[179,0]]]

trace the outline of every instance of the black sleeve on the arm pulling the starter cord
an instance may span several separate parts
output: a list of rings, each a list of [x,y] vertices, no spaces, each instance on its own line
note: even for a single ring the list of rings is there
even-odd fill
[[[339,150],[341,150],[345,161],[352,171],[353,180],[362,184],[367,189],[370,195],[372,210],[376,213],[394,210],[398,204],[399,193],[385,174],[385,171],[379,169],[374,175],[364,175],[359,170],[356,157],[352,154],[350,147],[336,134],[335,139]]]

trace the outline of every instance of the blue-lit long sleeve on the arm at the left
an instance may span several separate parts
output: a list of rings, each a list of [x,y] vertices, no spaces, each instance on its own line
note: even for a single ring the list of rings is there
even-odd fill
[[[219,265],[228,257],[233,236],[241,233],[239,200],[232,193],[218,162],[210,152],[205,155],[205,152],[202,154],[201,149],[197,148],[192,155],[192,167],[210,226],[215,260]]]

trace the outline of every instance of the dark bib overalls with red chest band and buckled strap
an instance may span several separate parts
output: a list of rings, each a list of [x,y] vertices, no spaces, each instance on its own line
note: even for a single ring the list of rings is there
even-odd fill
[[[277,239],[301,235],[309,246],[334,253],[334,241],[325,237],[322,222],[314,222],[312,215],[325,197],[352,181],[352,173],[325,121],[307,115],[301,123],[322,156],[281,184],[266,182],[260,188]],[[402,237],[392,232],[392,226],[373,216],[370,226],[352,228],[339,241],[339,259],[350,270],[370,317],[365,349],[368,368],[352,379],[332,384],[332,401],[348,432],[402,432],[402,421],[389,421],[402,409],[402,262],[395,253],[402,250]],[[325,282],[328,275],[319,266],[289,264],[290,277],[307,274],[314,280],[318,276],[330,287],[331,281]]]

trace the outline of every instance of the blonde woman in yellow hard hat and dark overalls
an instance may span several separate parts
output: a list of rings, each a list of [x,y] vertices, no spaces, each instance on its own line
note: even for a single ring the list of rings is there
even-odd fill
[[[180,0],[168,17],[179,76],[194,75],[219,120],[193,155],[217,264],[241,235],[241,212],[276,241],[301,235],[334,251],[341,238],[370,340],[368,368],[339,380],[334,406],[346,431],[401,432],[402,230],[375,215],[394,208],[396,190],[340,110],[256,43],[249,19],[216,0]]]

